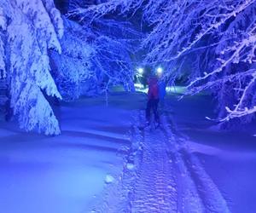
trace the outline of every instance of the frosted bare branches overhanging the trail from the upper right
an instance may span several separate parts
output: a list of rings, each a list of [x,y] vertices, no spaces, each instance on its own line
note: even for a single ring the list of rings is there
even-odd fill
[[[112,0],[72,14],[141,16],[151,29],[143,40],[146,60],[166,66],[171,80],[186,77],[188,95],[211,89],[219,120],[228,121],[256,111],[255,10],[255,0]]]

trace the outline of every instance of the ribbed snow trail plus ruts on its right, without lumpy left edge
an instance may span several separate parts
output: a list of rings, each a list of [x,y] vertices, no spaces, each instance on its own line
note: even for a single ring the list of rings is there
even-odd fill
[[[139,118],[143,121],[143,112]],[[229,212],[218,188],[187,150],[186,138],[168,120],[165,114],[160,130],[146,129],[141,133],[142,164],[137,172],[131,210]]]

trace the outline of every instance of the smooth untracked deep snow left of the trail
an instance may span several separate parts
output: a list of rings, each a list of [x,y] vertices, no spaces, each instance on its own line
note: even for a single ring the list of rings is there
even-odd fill
[[[104,98],[62,104],[62,134],[55,137],[1,121],[0,212],[89,212],[106,177],[121,173],[131,144],[126,98],[114,95],[108,107]]]

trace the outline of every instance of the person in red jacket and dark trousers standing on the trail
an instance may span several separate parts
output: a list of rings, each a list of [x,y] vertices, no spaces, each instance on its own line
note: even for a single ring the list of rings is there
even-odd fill
[[[146,119],[147,124],[150,124],[151,111],[154,113],[154,121],[160,123],[159,114],[157,112],[159,102],[159,85],[158,78],[156,76],[151,76],[148,78],[148,102],[146,108]]]

